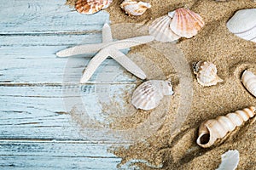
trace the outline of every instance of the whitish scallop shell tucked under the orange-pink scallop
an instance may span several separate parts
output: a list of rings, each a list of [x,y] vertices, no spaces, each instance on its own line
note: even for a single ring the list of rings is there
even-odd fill
[[[162,16],[153,21],[148,27],[148,32],[151,36],[154,36],[156,41],[160,42],[173,42],[180,38],[175,34],[171,28],[172,18],[169,15]]]

